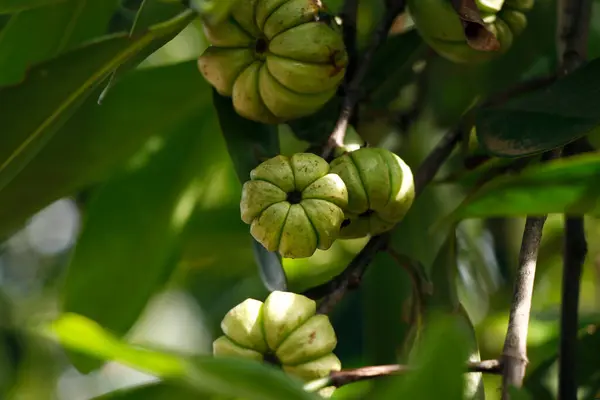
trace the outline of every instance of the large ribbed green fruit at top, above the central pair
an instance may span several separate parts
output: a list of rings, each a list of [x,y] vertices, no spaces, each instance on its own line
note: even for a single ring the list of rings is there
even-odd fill
[[[348,55],[321,0],[241,0],[204,25],[202,75],[236,112],[276,124],[313,114],[336,93]]]

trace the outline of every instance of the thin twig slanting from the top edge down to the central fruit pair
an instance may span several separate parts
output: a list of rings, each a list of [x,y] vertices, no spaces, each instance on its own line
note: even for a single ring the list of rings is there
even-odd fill
[[[333,132],[329,136],[329,140],[323,148],[323,158],[328,159],[334,149],[344,145],[344,138],[348,128],[348,122],[354,114],[354,109],[362,97],[363,93],[361,86],[365,77],[367,76],[367,73],[369,72],[373,57],[375,56],[375,53],[381,44],[385,41],[385,38],[388,36],[389,30],[396,17],[404,11],[405,6],[405,0],[386,1],[386,12],[379,26],[375,30],[373,37],[371,38],[369,47],[365,51],[360,65],[357,66],[350,83],[346,87],[345,97],[342,103],[342,110]]]

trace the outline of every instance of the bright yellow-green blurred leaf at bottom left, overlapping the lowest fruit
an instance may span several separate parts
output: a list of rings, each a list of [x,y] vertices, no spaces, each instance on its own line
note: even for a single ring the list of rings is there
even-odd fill
[[[181,382],[203,393],[248,400],[318,400],[302,390],[301,382],[274,367],[240,358],[178,357],[132,346],[77,314],[63,314],[42,334],[73,351],[117,361],[169,381]]]

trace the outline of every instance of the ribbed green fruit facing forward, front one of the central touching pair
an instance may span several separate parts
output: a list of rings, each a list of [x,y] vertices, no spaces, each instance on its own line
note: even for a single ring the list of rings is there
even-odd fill
[[[278,155],[250,172],[240,211],[250,233],[282,257],[310,257],[338,238],[348,204],[342,179],[312,153]]]

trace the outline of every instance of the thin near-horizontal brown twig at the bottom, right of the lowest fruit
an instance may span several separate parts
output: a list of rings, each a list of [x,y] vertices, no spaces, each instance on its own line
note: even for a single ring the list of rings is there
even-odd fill
[[[309,382],[305,389],[308,391],[317,391],[329,386],[342,387],[350,383],[364,381],[368,379],[383,378],[388,376],[402,375],[413,371],[414,368],[408,365],[389,364],[373,365],[355,369],[346,369],[342,371],[332,371],[329,377]],[[500,374],[502,371],[498,360],[470,361],[466,365],[466,373],[483,372],[488,374]]]

